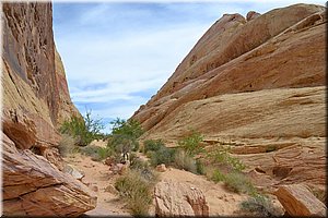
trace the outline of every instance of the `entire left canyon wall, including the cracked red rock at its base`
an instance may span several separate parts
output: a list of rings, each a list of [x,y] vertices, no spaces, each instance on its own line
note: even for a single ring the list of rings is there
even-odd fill
[[[82,214],[95,196],[59,171],[58,124],[80,113],[56,51],[51,3],[3,3],[2,20],[4,214]]]

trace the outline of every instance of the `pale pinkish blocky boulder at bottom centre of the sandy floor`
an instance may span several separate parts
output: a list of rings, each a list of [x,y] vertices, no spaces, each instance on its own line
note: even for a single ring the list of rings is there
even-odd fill
[[[160,182],[155,186],[155,214],[159,217],[209,216],[201,190],[186,183]]]

